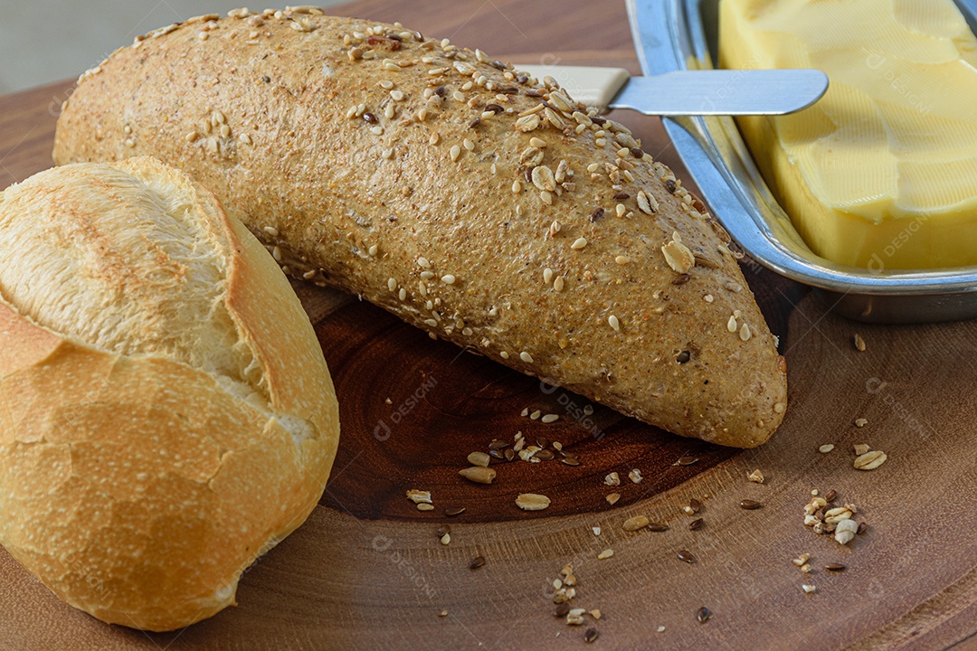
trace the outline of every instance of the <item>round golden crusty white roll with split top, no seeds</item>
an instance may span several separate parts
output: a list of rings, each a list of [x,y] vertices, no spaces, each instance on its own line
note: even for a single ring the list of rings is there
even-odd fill
[[[234,603],[316,506],[332,382],[281,271],[150,158],[0,193],[0,543],[105,622]]]

